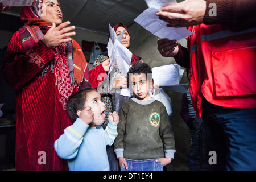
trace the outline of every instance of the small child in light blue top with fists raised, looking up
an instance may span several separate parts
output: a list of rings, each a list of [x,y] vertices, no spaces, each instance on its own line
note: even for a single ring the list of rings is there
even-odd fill
[[[104,130],[105,104],[96,89],[86,88],[73,93],[67,102],[68,115],[73,125],[55,141],[60,158],[68,159],[71,171],[109,170],[106,145],[112,145],[117,137],[119,116],[109,113],[109,123]]]

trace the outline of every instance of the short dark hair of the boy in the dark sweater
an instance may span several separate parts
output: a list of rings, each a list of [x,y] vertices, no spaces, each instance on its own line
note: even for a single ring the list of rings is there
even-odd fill
[[[129,78],[129,74],[141,74],[144,73],[146,75],[147,80],[152,79],[152,69],[147,63],[134,63],[127,73],[127,77]]]

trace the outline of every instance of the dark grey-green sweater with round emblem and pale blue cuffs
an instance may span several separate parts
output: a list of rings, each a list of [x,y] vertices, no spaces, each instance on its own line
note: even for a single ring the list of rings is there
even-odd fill
[[[174,158],[174,132],[162,102],[131,98],[122,105],[119,117],[114,142],[117,158]]]

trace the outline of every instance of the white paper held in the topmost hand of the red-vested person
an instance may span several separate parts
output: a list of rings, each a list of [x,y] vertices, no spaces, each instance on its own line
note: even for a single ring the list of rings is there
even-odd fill
[[[167,27],[167,22],[160,20],[158,16],[156,16],[160,7],[165,6],[167,3],[176,3],[176,1],[169,0],[167,2],[167,0],[148,0],[146,2],[149,8],[144,10],[143,13],[134,19],[134,21],[140,24],[143,28],[159,38],[167,38],[169,40],[180,40],[193,34],[193,32],[184,27]]]

